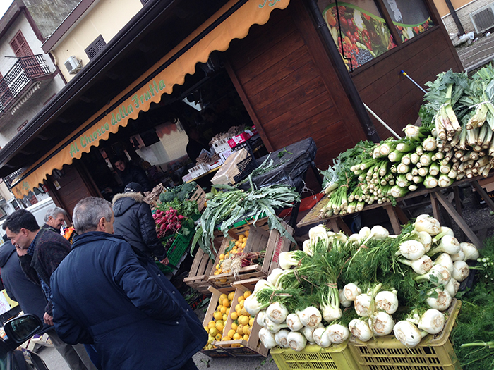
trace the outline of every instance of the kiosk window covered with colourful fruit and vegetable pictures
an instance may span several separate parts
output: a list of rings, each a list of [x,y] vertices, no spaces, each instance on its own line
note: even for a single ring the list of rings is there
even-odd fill
[[[318,0],[318,6],[349,70],[433,26],[424,0]]]

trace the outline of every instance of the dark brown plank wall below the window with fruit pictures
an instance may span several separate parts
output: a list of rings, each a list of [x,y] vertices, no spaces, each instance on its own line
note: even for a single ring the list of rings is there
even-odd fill
[[[352,73],[363,102],[399,135],[404,126],[415,123],[423,99],[423,92],[400,70],[422,87],[425,82],[435,80],[438,73],[449,69],[461,72],[463,67],[450,43],[441,27],[434,27],[388,52],[378,63]],[[391,136],[378,121],[374,118],[373,121],[381,139]]]

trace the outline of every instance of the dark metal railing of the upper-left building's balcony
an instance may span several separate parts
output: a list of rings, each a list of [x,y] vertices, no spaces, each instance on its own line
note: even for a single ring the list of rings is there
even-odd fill
[[[23,56],[0,80],[0,109],[4,111],[29,82],[51,72],[42,54]]]

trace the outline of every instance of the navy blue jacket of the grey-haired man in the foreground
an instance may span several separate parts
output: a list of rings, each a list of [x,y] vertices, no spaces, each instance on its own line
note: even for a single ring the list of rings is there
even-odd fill
[[[180,369],[207,333],[156,264],[123,238],[78,235],[52,275],[56,332],[93,344],[102,369]]]

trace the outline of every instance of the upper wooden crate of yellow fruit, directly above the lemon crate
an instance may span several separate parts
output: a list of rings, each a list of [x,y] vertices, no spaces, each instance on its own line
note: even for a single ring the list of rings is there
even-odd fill
[[[289,233],[293,233],[293,228],[284,223],[284,227],[287,228]],[[247,226],[246,228],[237,228],[229,230],[229,237],[224,238],[222,246],[219,248],[215,265],[219,264],[219,255],[224,254],[229,242],[236,238],[237,235],[249,230],[247,244],[243,252],[260,252],[265,250],[265,257],[262,264],[255,264],[251,266],[242,267],[239,272],[239,276],[234,277],[233,273],[220,273],[214,275],[215,268],[213,267],[209,282],[212,285],[218,287],[229,286],[236,280],[246,280],[250,278],[265,278],[273,269],[278,266],[278,257],[281,252],[288,252],[291,242],[287,238],[279,235],[277,230],[271,230],[267,232],[262,228],[255,228],[254,226]]]

